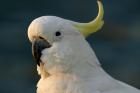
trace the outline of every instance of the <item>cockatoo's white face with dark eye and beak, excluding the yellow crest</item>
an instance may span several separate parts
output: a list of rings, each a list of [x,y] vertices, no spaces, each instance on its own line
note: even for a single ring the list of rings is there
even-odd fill
[[[67,71],[74,65],[85,40],[68,20],[53,16],[35,19],[29,26],[28,37],[35,61],[38,66],[43,63],[49,73]]]

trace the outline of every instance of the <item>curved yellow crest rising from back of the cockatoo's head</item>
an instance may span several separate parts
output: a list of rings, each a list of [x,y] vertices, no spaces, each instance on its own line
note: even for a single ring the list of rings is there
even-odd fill
[[[89,23],[75,23],[74,26],[85,36],[89,36],[90,34],[98,31],[99,29],[102,28],[104,21],[103,21],[103,16],[104,16],[104,9],[101,1],[97,1],[98,7],[99,7],[99,12],[98,16],[91,22]]]

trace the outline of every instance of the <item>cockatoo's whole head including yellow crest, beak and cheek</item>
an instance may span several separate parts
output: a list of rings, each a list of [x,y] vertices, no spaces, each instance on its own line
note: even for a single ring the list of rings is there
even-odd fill
[[[103,6],[89,23],[78,23],[56,16],[42,16],[30,24],[28,37],[37,65],[43,64],[49,74],[67,72],[75,64],[87,59],[91,52],[85,37],[103,25]]]

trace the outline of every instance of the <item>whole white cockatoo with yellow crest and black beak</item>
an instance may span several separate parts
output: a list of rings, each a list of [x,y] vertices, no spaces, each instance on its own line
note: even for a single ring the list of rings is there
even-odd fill
[[[103,26],[103,5],[97,17],[78,23],[56,16],[32,21],[28,37],[41,76],[37,93],[140,93],[108,75],[85,40]]]

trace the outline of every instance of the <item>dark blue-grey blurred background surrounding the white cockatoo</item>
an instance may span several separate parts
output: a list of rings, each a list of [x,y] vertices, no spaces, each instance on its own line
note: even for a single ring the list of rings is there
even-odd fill
[[[102,1],[105,25],[87,40],[109,74],[140,88],[140,0]],[[96,0],[0,0],[0,93],[36,93],[39,76],[27,37],[33,19],[88,22],[97,13]]]

